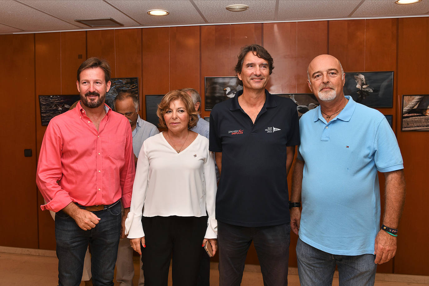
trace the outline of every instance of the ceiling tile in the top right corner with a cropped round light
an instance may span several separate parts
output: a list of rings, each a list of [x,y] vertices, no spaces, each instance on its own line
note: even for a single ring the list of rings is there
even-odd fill
[[[366,0],[352,16],[419,15],[429,11],[429,1],[399,5],[395,0]]]

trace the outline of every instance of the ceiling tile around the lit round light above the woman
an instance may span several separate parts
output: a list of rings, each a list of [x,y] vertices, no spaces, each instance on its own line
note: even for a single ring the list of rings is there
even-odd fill
[[[139,21],[142,25],[196,24],[204,23],[189,0],[106,0],[122,12]],[[163,9],[170,14],[151,16],[148,11]]]

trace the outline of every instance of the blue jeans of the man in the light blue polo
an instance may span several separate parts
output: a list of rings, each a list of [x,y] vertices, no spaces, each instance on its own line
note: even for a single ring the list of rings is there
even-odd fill
[[[302,286],[331,286],[335,265],[338,265],[340,286],[374,285],[375,255],[335,255],[306,244],[298,239],[296,244],[299,283]]]

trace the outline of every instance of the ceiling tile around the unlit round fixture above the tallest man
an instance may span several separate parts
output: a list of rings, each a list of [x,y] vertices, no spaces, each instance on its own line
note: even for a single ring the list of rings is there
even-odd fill
[[[194,3],[209,23],[274,20],[275,15],[275,0],[194,0]],[[245,4],[249,9],[228,11],[226,7],[232,4]]]

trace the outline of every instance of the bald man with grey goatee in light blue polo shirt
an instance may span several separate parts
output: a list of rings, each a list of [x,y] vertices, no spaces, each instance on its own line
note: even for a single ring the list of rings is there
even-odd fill
[[[308,66],[320,106],[299,120],[290,204],[304,286],[332,285],[335,265],[340,285],[374,285],[377,264],[396,253],[405,200],[401,152],[383,114],[344,96],[344,77],[341,63],[327,54]],[[381,227],[378,172],[386,178]]]

